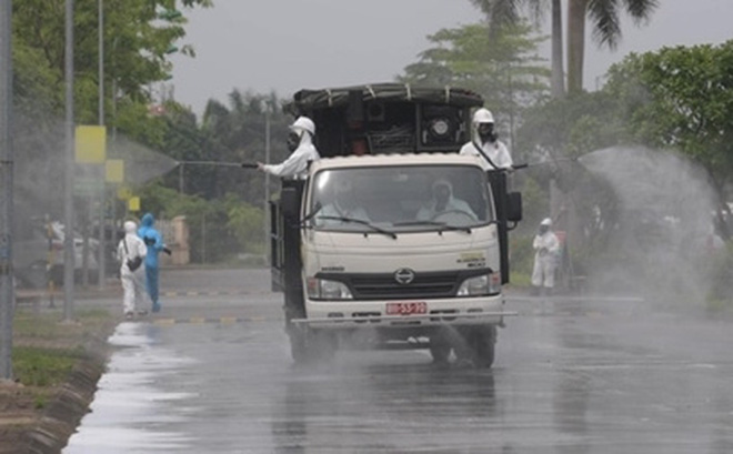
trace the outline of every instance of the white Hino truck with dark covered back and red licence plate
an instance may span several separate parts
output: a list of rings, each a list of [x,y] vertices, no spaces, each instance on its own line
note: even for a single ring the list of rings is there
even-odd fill
[[[321,153],[270,202],[297,363],[369,347],[491,366],[521,194],[458,153],[482,104],[466,90],[374,84],[302,90],[287,105],[314,120]]]

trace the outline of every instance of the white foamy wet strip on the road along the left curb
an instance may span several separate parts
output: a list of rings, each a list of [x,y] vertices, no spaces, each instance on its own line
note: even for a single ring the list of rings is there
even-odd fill
[[[164,427],[193,412],[178,405],[173,410],[172,404],[193,395],[165,392],[162,383],[195,362],[155,346],[155,333],[149,324],[118,325],[108,341],[118,350],[99,381],[90,413],[63,454],[154,453],[190,446],[191,438]]]

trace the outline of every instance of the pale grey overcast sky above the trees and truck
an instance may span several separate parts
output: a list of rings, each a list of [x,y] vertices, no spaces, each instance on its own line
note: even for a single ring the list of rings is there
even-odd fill
[[[660,3],[649,24],[624,21],[615,52],[588,42],[586,89],[629,52],[733,39],[731,0]],[[172,58],[172,83],[197,113],[233,89],[288,98],[301,88],[389,82],[429,47],[429,34],[481,19],[469,0],[214,0],[188,16],[182,43],[197,57]]]

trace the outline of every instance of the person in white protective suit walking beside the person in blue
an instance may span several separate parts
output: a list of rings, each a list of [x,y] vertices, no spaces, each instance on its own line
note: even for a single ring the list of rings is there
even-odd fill
[[[138,236],[138,224],[124,222],[124,238],[117,246],[122,281],[122,303],[124,316],[131,320],[135,312],[144,315],[148,311],[145,296],[145,269],[142,265],[148,254],[145,243]]]

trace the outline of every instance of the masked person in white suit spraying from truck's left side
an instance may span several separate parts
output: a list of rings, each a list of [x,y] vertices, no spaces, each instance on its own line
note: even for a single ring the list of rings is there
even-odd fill
[[[263,172],[280,178],[292,178],[304,180],[308,175],[310,161],[318,161],[321,155],[313,144],[315,137],[315,123],[308,117],[299,117],[290,125],[288,134],[288,149],[292,154],[280,164],[257,163],[257,168]]]

